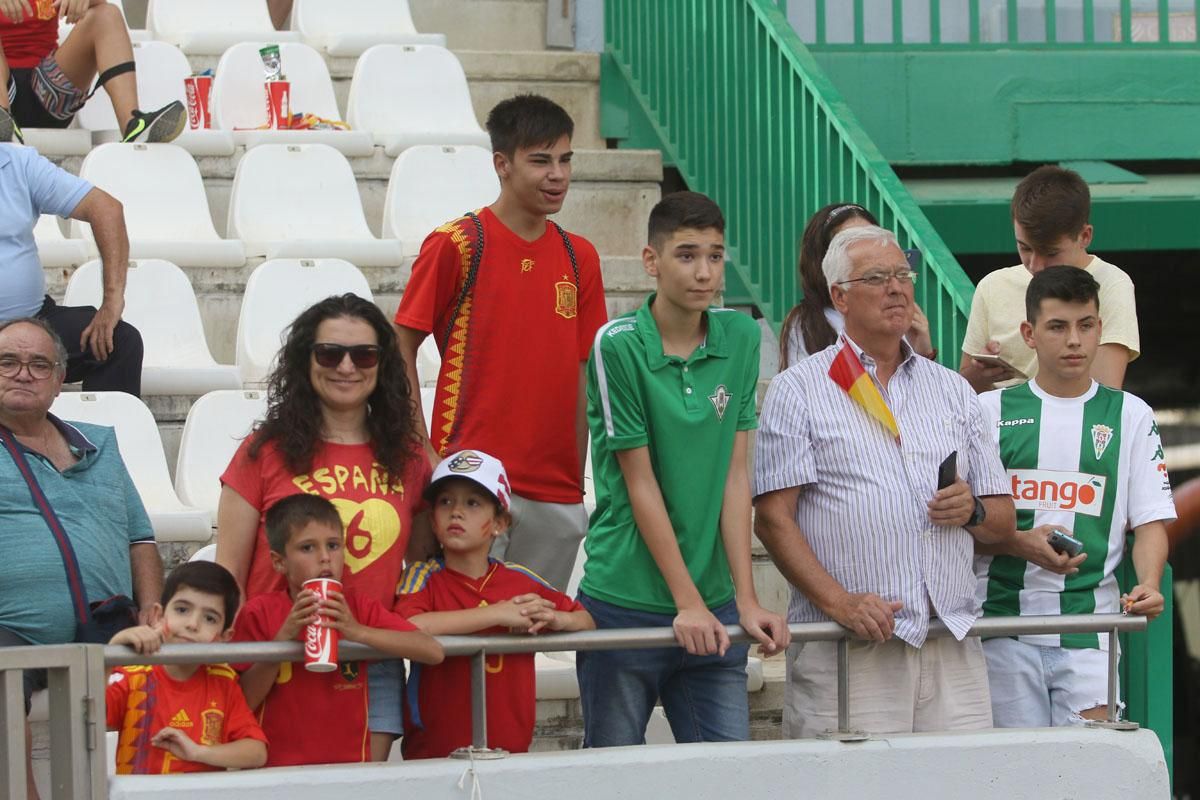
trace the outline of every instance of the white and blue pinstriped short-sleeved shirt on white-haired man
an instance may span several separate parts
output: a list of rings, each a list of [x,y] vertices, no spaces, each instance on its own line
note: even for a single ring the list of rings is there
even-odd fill
[[[850,593],[904,603],[895,634],[920,646],[932,612],[962,638],[979,616],[974,540],[935,525],[926,503],[937,468],[958,451],[976,495],[1008,494],[979,402],[958,374],[912,353],[884,389],[875,360],[850,342],[900,428],[900,444],[829,377],[838,343],[775,375],[755,445],[755,495],[802,487],[796,522],[830,576]],[[788,621],[828,619],[794,587]]]

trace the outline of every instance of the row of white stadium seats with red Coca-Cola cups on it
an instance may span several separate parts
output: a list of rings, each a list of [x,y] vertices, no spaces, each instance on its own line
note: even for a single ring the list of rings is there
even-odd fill
[[[378,44],[365,52],[350,80],[344,118],[349,131],[263,128],[266,97],[258,53],[263,43],[239,42],[223,52],[212,79],[212,127],[185,128],[176,144],[196,156],[230,156],[238,145],[269,143],[320,142],[347,156],[370,156],[376,146],[389,156],[419,144],[488,146],[487,133],[475,119],[462,65],[450,50],[436,44]],[[298,42],[281,43],[280,52],[290,82],[293,113],[341,120],[329,67],[320,53]],[[176,100],[187,103],[184,79],[192,74],[192,67],[179,48],[166,42],[139,42],[133,46],[133,59],[143,108],[160,108]],[[119,139],[116,116],[103,90],[79,110],[72,126],[61,131],[28,128],[25,139],[52,156],[82,156],[96,143]]]

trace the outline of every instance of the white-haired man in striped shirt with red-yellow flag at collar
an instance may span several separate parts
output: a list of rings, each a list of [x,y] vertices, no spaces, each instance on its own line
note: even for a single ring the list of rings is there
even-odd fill
[[[839,233],[822,263],[846,327],[781,372],[755,452],[756,530],[792,584],[790,622],[834,620],[850,645],[851,727],[991,727],[974,541],[1015,535],[1000,455],[971,386],[904,339],[913,282],[895,236]],[[932,618],[953,638],[928,639]],[[788,651],[784,733],[836,728],[834,642]]]

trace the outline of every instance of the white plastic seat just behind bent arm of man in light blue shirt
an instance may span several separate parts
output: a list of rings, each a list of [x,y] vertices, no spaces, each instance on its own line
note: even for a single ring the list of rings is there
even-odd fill
[[[196,161],[174,144],[102,144],[88,154],[79,176],[125,206],[130,255],[164,258],[182,266],[241,266],[240,241],[217,236],[204,179]],[[71,221],[71,236],[95,241],[91,225]]]

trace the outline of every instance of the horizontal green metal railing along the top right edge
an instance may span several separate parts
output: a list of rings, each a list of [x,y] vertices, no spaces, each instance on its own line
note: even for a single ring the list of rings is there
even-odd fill
[[[1019,11],[1031,11],[1028,2],[1018,0],[925,0],[929,5],[919,16],[914,12],[918,4],[912,0],[892,0],[890,36],[884,41],[872,40],[866,31],[866,12],[864,0],[778,0],[779,7],[787,13],[788,8],[802,7],[811,10],[814,20],[812,46],[818,48],[834,47],[1037,47],[1082,46],[1082,47],[1200,47],[1195,34],[1195,20],[1200,19],[1200,0],[1188,0],[1186,4],[1171,0],[1151,0],[1134,7],[1134,0],[1042,0],[1040,37],[1022,37],[1020,35]],[[1153,8],[1148,6],[1153,4]],[[830,41],[829,20],[832,10],[847,10],[852,13],[852,32],[850,41]],[[962,17],[966,13],[964,37],[948,38],[943,34],[943,20]],[[998,30],[989,30],[984,24],[983,12],[1003,13],[1003,25]],[[1033,12],[1038,8],[1034,6]],[[907,13],[906,13],[907,12]],[[1190,22],[1190,38],[1172,38],[1171,20]],[[928,28],[907,25],[907,22],[920,19],[928,22]],[[1064,20],[1079,23],[1079,37],[1063,37]],[[881,20],[883,22],[883,20]],[[1145,23],[1150,23],[1146,25]],[[1074,25],[1073,25],[1074,28]],[[1111,38],[1098,37],[1097,31],[1111,31]],[[1139,34],[1139,35],[1135,35]]]

